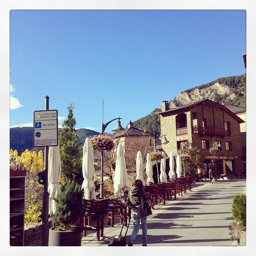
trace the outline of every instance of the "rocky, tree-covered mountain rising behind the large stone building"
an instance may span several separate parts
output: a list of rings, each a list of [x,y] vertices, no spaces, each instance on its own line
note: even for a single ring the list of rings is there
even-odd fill
[[[207,84],[180,92],[169,102],[169,108],[176,108],[192,102],[210,99],[219,104],[232,104],[246,108],[246,74],[218,78]],[[160,136],[160,108],[154,109],[150,114],[134,121],[134,127]]]

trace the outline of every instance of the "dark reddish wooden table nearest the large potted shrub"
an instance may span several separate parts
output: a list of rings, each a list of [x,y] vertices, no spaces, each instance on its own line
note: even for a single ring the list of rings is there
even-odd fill
[[[96,234],[97,234],[97,241],[100,241],[100,236],[103,237],[103,231],[104,231],[104,216],[108,216],[111,214],[111,212],[101,212],[101,213],[84,213],[83,218],[83,225],[87,226],[89,224],[89,217],[96,217],[96,227],[94,226],[88,226],[89,228],[96,228]],[[83,235],[86,236],[86,230],[84,230]]]

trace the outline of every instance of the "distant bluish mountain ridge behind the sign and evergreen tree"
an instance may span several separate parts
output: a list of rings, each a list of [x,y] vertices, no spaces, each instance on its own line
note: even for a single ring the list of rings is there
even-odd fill
[[[100,134],[89,129],[77,129],[78,144],[84,145],[85,139]],[[26,149],[38,151],[43,148],[33,148],[33,127],[14,127],[10,128],[10,149],[18,150],[21,154]]]

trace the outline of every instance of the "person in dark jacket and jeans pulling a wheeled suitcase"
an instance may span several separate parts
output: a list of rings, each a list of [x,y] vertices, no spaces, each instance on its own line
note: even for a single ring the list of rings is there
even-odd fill
[[[131,216],[133,221],[133,230],[128,246],[133,246],[140,229],[140,222],[142,226],[142,246],[147,246],[147,216],[141,216],[138,211],[140,209],[141,200],[147,201],[148,196],[144,191],[142,181],[135,180],[132,184],[132,188],[128,192],[128,201],[130,201],[133,206],[131,208],[127,208],[129,211],[128,216]]]

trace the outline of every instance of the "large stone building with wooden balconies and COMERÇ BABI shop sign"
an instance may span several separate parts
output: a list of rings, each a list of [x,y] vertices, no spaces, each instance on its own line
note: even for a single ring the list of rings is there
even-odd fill
[[[166,134],[169,143],[162,145],[165,152],[182,153],[182,147],[192,144],[204,158],[204,172],[216,166],[220,174],[241,174],[244,162],[240,124],[244,121],[226,106],[212,100],[201,100],[178,108],[169,109],[167,101],[162,102],[160,114],[161,134]],[[214,155],[209,149],[221,147]]]

